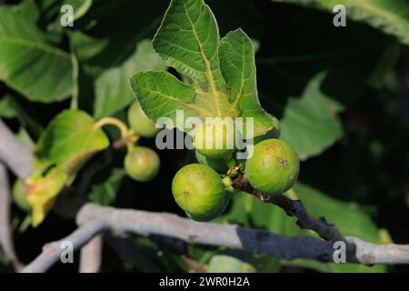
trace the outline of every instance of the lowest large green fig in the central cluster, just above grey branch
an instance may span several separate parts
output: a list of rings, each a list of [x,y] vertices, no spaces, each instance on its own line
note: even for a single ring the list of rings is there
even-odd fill
[[[201,164],[181,168],[172,182],[172,193],[177,205],[197,221],[214,219],[226,204],[222,179],[210,166]]]

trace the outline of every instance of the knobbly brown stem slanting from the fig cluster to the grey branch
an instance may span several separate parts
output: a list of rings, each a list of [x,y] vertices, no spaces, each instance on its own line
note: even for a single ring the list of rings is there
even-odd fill
[[[342,241],[347,246],[347,251],[354,252],[354,245],[348,243],[348,241],[341,235],[338,228],[334,225],[328,224],[324,217],[315,219],[311,216],[303,203],[300,200],[293,200],[283,194],[270,195],[265,194],[253,186],[250,185],[248,180],[245,178],[243,172],[239,172],[234,178],[232,186],[234,189],[246,192],[255,196],[257,199],[264,203],[274,204],[282,208],[287,216],[295,216],[297,220],[297,226],[302,229],[310,229],[317,233],[321,238],[326,241],[336,242]]]

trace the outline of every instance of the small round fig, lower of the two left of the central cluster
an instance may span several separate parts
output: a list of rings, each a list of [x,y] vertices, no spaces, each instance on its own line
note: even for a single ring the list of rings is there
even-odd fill
[[[135,146],[125,156],[126,173],[138,182],[152,180],[160,168],[156,152],[146,146]]]

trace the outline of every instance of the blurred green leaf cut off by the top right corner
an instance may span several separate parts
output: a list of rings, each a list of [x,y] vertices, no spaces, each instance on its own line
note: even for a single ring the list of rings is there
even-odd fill
[[[409,45],[409,5],[406,0],[272,0],[274,2],[309,5],[333,12],[344,5],[346,16],[397,36]]]

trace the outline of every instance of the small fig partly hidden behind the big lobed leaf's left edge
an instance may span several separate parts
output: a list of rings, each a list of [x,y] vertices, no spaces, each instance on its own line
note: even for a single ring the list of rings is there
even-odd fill
[[[155,122],[145,115],[139,102],[134,102],[134,104],[129,107],[128,121],[136,135],[154,137],[160,130],[160,128],[155,127]]]

